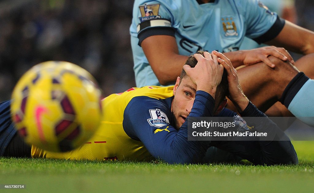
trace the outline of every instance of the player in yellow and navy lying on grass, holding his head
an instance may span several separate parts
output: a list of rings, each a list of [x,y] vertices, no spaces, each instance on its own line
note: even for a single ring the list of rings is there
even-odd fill
[[[242,116],[266,117],[243,94],[230,60],[218,52],[201,54],[187,60],[188,65],[174,86],[133,88],[106,97],[102,101],[104,115],[98,131],[82,147],[66,153],[29,147],[17,134],[10,138],[16,132],[9,118],[10,102],[3,102],[1,156],[137,161],[159,158],[168,163],[186,164],[199,163],[206,150],[216,146],[254,164],[297,164],[290,139],[268,118],[265,123],[268,132],[279,133],[280,141],[187,140],[187,122],[191,117],[236,115],[224,108],[228,92]]]

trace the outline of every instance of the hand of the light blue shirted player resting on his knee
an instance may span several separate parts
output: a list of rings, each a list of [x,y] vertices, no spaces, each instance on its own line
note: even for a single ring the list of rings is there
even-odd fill
[[[275,46],[265,46],[261,48],[255,48],[252,50],[245,50],[244,51],[244,65],[252,65],[258,62],[264,62],[269,67],[274,68],[275,64],[273,64],[269,59],[268,56],[275,56],[283,61],[289,61],[291,64],[294,65],[294,60],[289,54],[289,52],[284,48],[278,48]]]

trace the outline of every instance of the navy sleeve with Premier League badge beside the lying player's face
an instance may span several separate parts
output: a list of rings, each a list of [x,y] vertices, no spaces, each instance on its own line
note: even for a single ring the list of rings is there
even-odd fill
[[[210,141],[188,141],[187,121],[190,117],[212,117],[213,109],[213,97],[197,91],[191,113],[177,131],[171,125],[171,102],[139,96],[127,105],[123,128],[131,138],[140,140],[155,158],[171,164],[197,163],[204,157]]]

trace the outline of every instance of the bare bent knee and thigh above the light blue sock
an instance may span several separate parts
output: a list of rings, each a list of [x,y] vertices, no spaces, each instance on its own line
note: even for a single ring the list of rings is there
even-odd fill
[[[276,65],[275,68],[261,62],[237,70],[244,93],[263,112],[280,99],[285,87],[299,72],[290,63],[273,56],[269,59]],[[227,108],[235,110],[230,101]]]

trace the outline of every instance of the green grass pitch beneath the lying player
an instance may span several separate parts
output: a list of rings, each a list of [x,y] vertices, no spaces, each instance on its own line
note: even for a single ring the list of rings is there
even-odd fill
[[[311,192],[314,141],[292,143],[296,166],[0,158],[0,192]]]

